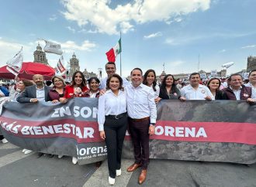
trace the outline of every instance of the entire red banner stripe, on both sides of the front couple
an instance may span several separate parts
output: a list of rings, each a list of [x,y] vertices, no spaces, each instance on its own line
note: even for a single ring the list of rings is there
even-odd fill
[[[78,143],[99,142],[96,121],[23,121],[1,117],[2,128],[22,138],[74,138]],[[150,139],[165,141],[234,142],[256,145],[256,124],[236,122],[157,121]],[[130,135],[126,133],[126,140]]]

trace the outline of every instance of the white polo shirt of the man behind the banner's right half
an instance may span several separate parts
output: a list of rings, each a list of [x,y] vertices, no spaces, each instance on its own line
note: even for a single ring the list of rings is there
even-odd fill
[[[207,96],[215,100],[209,88],[202,84],[199,84],[196,90],[189,84],[188,86],[182,87],[181,93],[182,97],[185,97],[186,100],[205,100]]]

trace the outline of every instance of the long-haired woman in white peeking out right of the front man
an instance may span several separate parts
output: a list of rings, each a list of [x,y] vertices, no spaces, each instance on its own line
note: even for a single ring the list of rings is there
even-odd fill
[[[158,103],[161,100],[159,97],[160,87],[157,85],[156,73],[154,70],[146,71],[143,83],[147,85],[147,87],[151,87],[152,91],[154,91],[154,102]]]

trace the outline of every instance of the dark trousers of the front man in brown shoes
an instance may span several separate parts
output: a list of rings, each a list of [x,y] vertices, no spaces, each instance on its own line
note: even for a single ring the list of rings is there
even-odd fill
[[[147,169],[149,162],[149,125],[150,119],[145,121],[133,121],[128,118],[130,137],[133,141],[134,158],[136,164],[142,164],[143,169]]]

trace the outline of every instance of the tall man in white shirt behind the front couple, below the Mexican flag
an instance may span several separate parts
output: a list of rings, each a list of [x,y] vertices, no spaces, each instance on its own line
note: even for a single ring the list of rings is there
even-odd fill
[[[109,78],[109,76],[116,73],[116,63],[112,63],[112,62],[106,63],[105,68],[108,76],[106,76],[104,79],[100,81],[100,86],[99,86],[100,90],[106,89],[106,80]],[[123,79],[123,87],[126,87],[126,85],[129,84],[129,82],[128,80],[126,80],[126,78],[122,77],[122,79]]]

